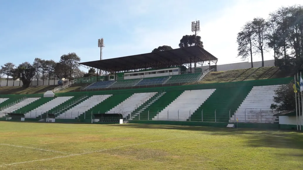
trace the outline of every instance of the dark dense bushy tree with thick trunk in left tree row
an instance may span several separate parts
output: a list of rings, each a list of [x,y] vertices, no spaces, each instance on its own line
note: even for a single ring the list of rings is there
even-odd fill
[[[17,70],[18,78],[22,81],[23,87],[28,88],[35,76],[35,68],[30,63],[24,62],[18,66]]]

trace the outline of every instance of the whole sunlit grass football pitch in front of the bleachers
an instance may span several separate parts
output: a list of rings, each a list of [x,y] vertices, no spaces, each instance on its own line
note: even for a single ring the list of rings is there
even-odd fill
[[[0,122],[0,169],[303,169],[303,133]]]

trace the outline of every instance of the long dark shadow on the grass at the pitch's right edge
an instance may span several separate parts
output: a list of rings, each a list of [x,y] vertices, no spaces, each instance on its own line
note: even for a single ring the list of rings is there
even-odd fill
[[[166,129],[166,130],[188,130],[201,131],[218,136],[238,136],[245,138],[251,147],[274,147],[303,149],[303,133],[291,130],[260,130],[260,129],[234,129],[217,127],[192,127],[176,125],[154,125],[154,124],[127,124],[125,127],[143,129]]]

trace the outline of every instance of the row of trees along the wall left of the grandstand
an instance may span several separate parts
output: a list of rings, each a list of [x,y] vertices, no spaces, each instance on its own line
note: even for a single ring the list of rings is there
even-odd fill
[[[19,79],[25,88],[30,86],[33,79],[37,80],[37,85],[39,85],[38,80],[43,80],[42,85],[44,85],[44,80],[48,80],[48,85],[50,85],[51,79],[77,79],[85,76],[85,72],[79,69],[80,61],[76,53],[68,53],[62,55],[59,62],[35,58],[33,63],[23,62],[18,66],[14,63],[5,63],[0,69],[0,79],[5,76],[7,86],[9,77],[14,80],[13,85],[15,80]]]

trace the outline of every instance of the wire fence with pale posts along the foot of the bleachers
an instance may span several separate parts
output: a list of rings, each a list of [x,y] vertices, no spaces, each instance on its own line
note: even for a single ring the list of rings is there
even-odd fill
[[[142,108],[142,107],[141,107]],[[20,112],[24,114],[25,118],[39,118],[44,119],[48,112]],[[56,119],[95,119],[93,114],[100,114],[101,112],[87,113],[80,111],[72,111],[69,114],[53,113]],[[106,113],[106,112],[105,112]],[[218,112],[217,109],[212,111],[193,111],[193,110],[174,110],[174,111],[161,111],[161,110],[145,110],[135,114],[134,111],[127,110],[114,110],[111,113],[122,114],[124,120],[153,120],[153,121],[191,121],[191,122],[213,122],[213,123],[236,123],[237,118],[239,123],[278,123],[278,117],[275,117],[275,111],[262,110],[262,109],[250,109],[247,108],[243,112],[231,113],[231,111],[225,111],[224,113]],[[103,113],[104,114],[104,113]],[[8,113],[1,113],[1,115],[8,116]]]

